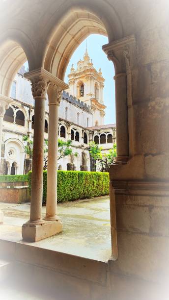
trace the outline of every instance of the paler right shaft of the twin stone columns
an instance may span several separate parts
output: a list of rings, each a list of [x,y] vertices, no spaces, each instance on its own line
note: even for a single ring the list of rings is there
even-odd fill
[[[58,144],[58,103],[49,103],[48,133],[48,181],[45,220],[56,220],[57,206],[57,144]]]

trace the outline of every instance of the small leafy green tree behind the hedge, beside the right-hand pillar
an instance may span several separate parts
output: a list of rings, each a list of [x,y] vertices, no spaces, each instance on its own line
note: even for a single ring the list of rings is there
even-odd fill
[[[113,149],[110,149],[108,153],[104,153],[102,150],[102,147],[99,147],[95,142],[90,143],[89,153],[98,162],[100,171],[109,172],[109,168],[116,157],[116,144],[113,145]]]

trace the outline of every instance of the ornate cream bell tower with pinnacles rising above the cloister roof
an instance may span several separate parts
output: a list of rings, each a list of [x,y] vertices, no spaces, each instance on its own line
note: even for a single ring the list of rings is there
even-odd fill
[[[91,107],[92,126],[104,125],[104,109],[106,106],[103,101],[103,88],[105,79],[102,76],[101,69],[97,72],[93,67],[87,47],[83,60],[80,59],[77,62],[76,70],[72,64],[68,77],[69,94]]]

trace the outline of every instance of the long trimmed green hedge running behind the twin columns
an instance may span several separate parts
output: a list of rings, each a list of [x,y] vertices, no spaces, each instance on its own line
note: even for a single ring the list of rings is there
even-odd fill
[[[28,173],[29,192],[31,172]],[[43,173],[43,202],[46,202],[47,171]],[[57,201],[69,201],[109,195],[109,173],[57,171]]]

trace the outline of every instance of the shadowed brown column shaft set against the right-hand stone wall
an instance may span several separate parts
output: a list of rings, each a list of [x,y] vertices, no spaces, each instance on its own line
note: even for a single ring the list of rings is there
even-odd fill
[[[117,161],[127,161],[129,157],[128,110],[126,74],[114,76],[116,109]]]

